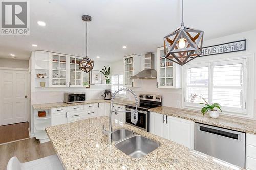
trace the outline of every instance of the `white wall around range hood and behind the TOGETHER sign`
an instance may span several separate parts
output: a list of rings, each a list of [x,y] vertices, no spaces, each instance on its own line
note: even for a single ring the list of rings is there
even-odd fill
[[[205,33],[207,34],[207,33]],[[238,34],[232,34],[212,40],[207,40],[203,42],[203,46],[211,46],[211,45],[218,45],[226,42],[232,42],[232,41],[238,41],[238,40],[247,40],[247,47],[246,51],[240,51],[240,52],[233,52],[233,53],[226,53],[226,54],[219,54],[219,55],[212,55],[212,56],[205,56],[205,57],[199,57],[191,63],[197,63],[198,61],[207,61],[211,58],[229,58],[236,55],[241,54],[247,54],[247,53],[256,53],[256,30],[251,30],[247,32],[242,32]],[[156,49],[153,49],[155,51],[155,69],[157,68],[157,53]],[[141,57],[142,59],[142,69],[144,68],[144,56]],[[111,64],[112,70],[123,71],[123,67],[121,67],[122,61],[117,61]],[[254,64],[256,65],[256,60],[254,60]],[[255,72],[255,71],[254,71]],[[158,89],[156,86],[157,80],[142,80],[142,85],[140,88],[131,88],[133,89],[137,94],[139,93],[148,93],[148,94],[159,94],[163,95],[163,106],[169,106],[169,107],[181,107],[177,105],[177,101],[181,101],[182,98],[182,89]],[[256,74],[254,74],[254,88],[256,89]],[[254,119],[256,119],[256,90],[254,90]]]

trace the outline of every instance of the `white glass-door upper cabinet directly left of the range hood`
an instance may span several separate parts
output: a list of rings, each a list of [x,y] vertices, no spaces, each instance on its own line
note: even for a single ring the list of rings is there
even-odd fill
[[[131,76],[136,75],[141,71],[141,56],[133,54],[123,58],[124,63],[124,86],[126,87],[140,87],[140,79],[130,79]]]

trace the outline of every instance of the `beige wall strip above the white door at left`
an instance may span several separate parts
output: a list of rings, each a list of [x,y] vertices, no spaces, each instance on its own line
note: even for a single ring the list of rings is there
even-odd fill
[[[28,68],[29,60],[0,58],[0,67]]]

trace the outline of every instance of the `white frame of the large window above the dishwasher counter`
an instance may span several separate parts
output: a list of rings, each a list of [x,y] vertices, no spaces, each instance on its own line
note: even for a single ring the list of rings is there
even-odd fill
[[[200,57],[199,57],[200,58]],[[191,104],[190,102],[186,102],[186,93],[187,93],[187,71],[188,68],[193,67],[206,67],[209,69],[209,79],[208,79],[208,98],[212,98],[213,91],[213,70],[214,66],[219,65],[228,65],[233,63],[238,63],[237,60],[241,60],[245,65],[243,68],[243,105],[242,111],[238,111],[235,108],[231,107],[222,107],[223,114],[226,115],[234,115],[234,116],[242,116],[252,118],[254,115],[254,53],[249,54],[240,54],[236,56],[232,56],[230,58],[222,56],[218,57],[202,57],[199,61],[194,64],[191,62],[190,64],[186,64],[182,68],[182,108],[193,109],[193,110],[201,110],[202,105],[200,104]]]

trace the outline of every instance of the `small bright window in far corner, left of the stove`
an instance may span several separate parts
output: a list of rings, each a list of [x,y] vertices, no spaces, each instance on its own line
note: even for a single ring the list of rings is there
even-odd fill
[[[111,82],[112,82],[112,86],[111,86],[111,92],[115,92],[116,90],[119,90],[120,88],[123,88],[123,74],[113,74],[111,76]],[[126,91],[120,91],[118,93],[119,97],[122,98],[126,98],[127,97],[127,93]]]

